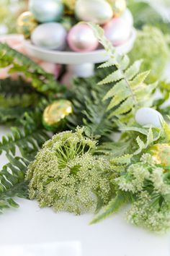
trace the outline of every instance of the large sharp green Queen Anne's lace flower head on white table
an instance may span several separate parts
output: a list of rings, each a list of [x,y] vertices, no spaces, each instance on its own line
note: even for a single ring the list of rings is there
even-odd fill
[[[108,202],[109,161],[93,155],[96,142],[83,133],[78,128],[55,135],[30,164],[30,198],[37,198],[41,207],[79,215],[94,210],[98,200]]]

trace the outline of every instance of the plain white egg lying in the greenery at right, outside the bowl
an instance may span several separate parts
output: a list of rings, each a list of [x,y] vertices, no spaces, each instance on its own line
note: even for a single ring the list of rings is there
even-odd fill
[[[161,128],[163,116],[153,108],[140,108],[135,114],[135,121],[142,126],[152,125]]]

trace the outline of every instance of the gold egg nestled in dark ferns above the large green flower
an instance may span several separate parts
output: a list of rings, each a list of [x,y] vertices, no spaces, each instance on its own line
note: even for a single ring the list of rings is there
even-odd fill
[[[72,104],[67,100],[54,101],[45,108],[42,121],[46,129],[53,130],[63,123],[66,116],[73,113]]]

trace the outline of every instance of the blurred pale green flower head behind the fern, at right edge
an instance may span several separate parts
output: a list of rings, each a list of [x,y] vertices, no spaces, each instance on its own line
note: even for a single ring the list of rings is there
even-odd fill
[[[169,47],[164,34],[156,27],[145,26],[138,30],[133,50],[129,54],[130,61],[143,59],[141,71],[151,70],[147,82],[161,80],[169,60]]]

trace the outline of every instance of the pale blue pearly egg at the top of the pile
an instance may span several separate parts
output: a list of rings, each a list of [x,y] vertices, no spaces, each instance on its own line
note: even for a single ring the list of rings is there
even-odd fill
[[[61,0],[30,0],[29,9],[39,22],[55,22],[63,15]]]

